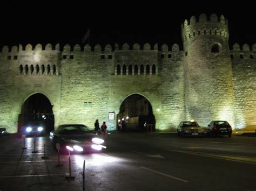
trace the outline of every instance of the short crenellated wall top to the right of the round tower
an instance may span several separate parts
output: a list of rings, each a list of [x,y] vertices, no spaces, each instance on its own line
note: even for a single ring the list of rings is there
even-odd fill
[[[251,47],[248,44],[240,46],[235,43],[230,51],[231,59],[254,59],[256,58],[256,44]]]

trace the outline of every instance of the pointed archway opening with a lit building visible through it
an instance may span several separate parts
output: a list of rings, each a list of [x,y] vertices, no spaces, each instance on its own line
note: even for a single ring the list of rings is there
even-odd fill
[[[152,125],[152,130],[155,131],[156,119],[149,100],[140,94],[126,97],[117,114],[117,129],[125,132],[145,132],[145,122]]]

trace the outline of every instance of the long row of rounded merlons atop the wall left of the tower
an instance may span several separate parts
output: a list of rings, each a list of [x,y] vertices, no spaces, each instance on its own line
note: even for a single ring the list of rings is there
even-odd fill
[[[122,46],[119,46],[118,44],[114,44],[114,46],[111,46],[110,44],[107,44],[105,46],[101,46],[99,44],[95,45],[94,47],[86,44],[83,47],[79,44],[76,44],[74,46],[70,46],[69,44],[64,45],[63,47],[60,47],[59,44],[52,46],[51,44],[47,44],[46,46],[42,46],[41,44],[37,44],[36,46],[32,46],[31,44],[28,44],[26,46],[22,46],[21,44],[19,47],[17,46],[3,46],[2,53],[18,53],[18,52],[33,52],[33,51],[60,51],[60,52],[114,52],[114,51],[169,51],[169,47],[167,45],[161,45],[161,47],[158,47],[158,44],[154,44],[154,46],[151,46],[149,43],[145,43],[143,46],[140,46],[138,43],[133,44],[130,46],[129,44],[125,43]],[[179,45],[174,44],[172,46],[172,51],[179,51]]]

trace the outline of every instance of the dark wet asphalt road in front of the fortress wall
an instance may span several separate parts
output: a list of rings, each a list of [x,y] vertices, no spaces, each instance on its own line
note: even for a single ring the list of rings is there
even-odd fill
[[[63,166],[56,167],[48,137],[36,138],[36,147],[26,138],[26,150],[21,135],[0,136],[0,143],[1,191],[256,190],[256,137],[112,133],[104,152],[71,154],[71,174],[69,155],[60,155]]]

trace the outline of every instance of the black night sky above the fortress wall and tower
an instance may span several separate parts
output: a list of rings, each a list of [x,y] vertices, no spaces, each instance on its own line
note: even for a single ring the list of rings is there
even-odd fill
[[[211,13],[218,16],[222,14],[228,19],[230,45],[256,44],[253,5],[244,5],[242,2],[222,5],[223,2],[217,1],[200,5],[173,1],[149,2],[120,1],[110,4],[99,1],[87,4],[80,1],[80,4],[73,4],[63,1],[58,5],[43,1],[8,3],[0,11],[0,45],[81,44],[89,28],[91,45],[181,45],[181,22],[193,15],[199,17],[201,13],[206,13],[208,17]],[[211,5],[211,2],[214,4]]]

